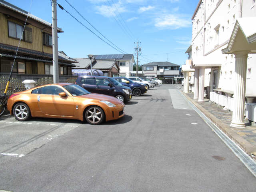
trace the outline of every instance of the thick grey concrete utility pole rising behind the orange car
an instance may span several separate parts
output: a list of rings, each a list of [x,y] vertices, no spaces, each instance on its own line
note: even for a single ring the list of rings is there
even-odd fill
[[[53,83],[59,82],[57,0],[52,0],[52,62]]]

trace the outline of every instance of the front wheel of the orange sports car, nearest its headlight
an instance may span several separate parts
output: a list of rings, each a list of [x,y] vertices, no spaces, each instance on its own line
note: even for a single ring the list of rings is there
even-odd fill
[[[85,112],[86,121],[92,125],[98,125],[102,123],[104,118],[104,111],[98,106],[91,106]]]

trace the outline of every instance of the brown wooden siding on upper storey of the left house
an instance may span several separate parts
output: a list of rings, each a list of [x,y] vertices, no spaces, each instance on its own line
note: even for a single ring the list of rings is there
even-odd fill
[[[0,43],[8,44],[12,46],[18,46],[19,40],[8,37],[8,20],[23,26],[22,22],[19,22],[15,19],[7,19],[4,14],[0,13]],[[32,43],[29,42],[20,42],[20,47],[27,48],[36,51],[44,51],[46,53],[52,53],[52,47],[44,46],[42,48],[42,31],[40,28],[32,26],[31,24],[26,25],[29,28],[32,28]]]

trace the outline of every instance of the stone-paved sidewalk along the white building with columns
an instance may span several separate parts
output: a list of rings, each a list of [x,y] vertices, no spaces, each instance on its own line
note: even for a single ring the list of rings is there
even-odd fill
[[[180,90],[181,91],[181,90]],[[250,157],[256,161],[256,126],[246,126],[245,128],[234,128],[230,126],[232,120],[232,112],[223,110],[221,106],[213,102],[198,103],[193,99],[194,93],[185,94],[181,91],[188,100],[190,100],[204,115],[209,118],[222,132],[238,144]]]

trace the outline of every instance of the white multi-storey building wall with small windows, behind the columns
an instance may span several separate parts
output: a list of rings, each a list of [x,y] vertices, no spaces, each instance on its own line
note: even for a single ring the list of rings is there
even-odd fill
[[[242,0],[242,17],[256,16],[253,0]],[[205,18],[204,18],[205,15]],[[204,56],[221,67],[205,70],[205,86],[211,86],[217,72],[216,87],[234,90],[234,54],[222,54],[230,39],[234,24],[240,17],[240,0],[202,0],[192,24],[192,58]],[[204,22],[205,21],[205,22]],[[195,60],[195,59],[194,59]],[[246,93],[256,94],[256,54],[249,54]]]

